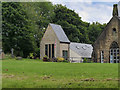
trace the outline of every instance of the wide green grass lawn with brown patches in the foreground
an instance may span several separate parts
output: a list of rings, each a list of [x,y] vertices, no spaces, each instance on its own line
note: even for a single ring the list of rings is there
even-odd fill
[[[3,88],[118,88],[118,64],[2,61]]]

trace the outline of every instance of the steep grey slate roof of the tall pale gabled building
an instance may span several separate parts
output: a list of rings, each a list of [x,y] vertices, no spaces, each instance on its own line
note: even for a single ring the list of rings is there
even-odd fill
[[[62,29],[62,27],[60,25],[50,23],[50,26],[54,30],[54,32],[55,32],[56,36],[58,37],[58,39],[60,40],[60,42],[70,43],[69,39],[67,38],[64,30]]]

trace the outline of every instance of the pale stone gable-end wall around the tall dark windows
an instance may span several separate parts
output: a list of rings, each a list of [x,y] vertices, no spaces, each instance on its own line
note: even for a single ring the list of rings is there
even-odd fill
[[[55,57],[60,55],[60,41],[58,40],[55,32],[52,30],[52,27],[48,25],[46,32],[40,42],[40,58],[42,59],[45,56],[45,44],[55,44]]]

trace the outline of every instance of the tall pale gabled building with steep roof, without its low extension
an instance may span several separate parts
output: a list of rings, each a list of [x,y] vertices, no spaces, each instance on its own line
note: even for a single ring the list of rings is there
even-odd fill
[[[69,57],[70,41],[62,27],[56,24],[49,24],[40,43],[40,58],[47,55],[49,58]]]

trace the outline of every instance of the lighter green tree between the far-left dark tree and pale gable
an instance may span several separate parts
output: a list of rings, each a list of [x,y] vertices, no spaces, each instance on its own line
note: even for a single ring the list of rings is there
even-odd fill
[[[35,53],[40,55],[40,41],[52,18],[54,17],[53,5],[51,2],[27,2],[22,3],[28,18],[31,20],[31,27],[34,30],[34,38],[37,43]]]

